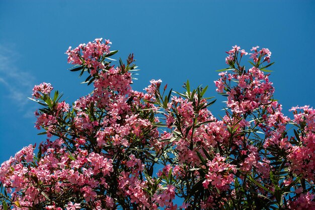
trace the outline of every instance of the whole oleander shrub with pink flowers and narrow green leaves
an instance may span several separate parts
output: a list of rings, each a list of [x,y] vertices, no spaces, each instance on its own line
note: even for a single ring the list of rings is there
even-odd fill
[[[47,140],[0,168],[1,209],[315,209],[315,111],[273,99],[271,52],[234,46],[215,81],[227,97],[216,119],[207,87],[131,88],[132,54],[114,67],[109,40],[66,51],[92,94],[67,104],[51,84],[33,89]],[[241,65],[250,55],[251,67]]]

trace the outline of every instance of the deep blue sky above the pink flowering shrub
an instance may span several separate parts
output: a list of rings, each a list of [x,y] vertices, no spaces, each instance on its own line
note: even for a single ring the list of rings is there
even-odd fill
[[[266,47],[284,112],[315,107],[315,1],[1,0],[0,163],[45,140],[34,128],[37,106],[27,99],[35,84],[51,83],[68,103],[90,93],[66,70],[64,52],[98,37],[110,39],[122,58],[135,54],[141,71],[134,89],[151,79],[178,91],[187,79],[193,87],[209,85],[216,116],[224,98],[213,81],[215,70],[226,67],[225,51],[235,44]]]

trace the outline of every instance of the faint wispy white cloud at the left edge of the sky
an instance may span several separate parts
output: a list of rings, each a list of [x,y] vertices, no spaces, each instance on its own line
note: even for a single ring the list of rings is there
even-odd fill
[[[30,103],[27,97],[31,94],[35,78],[15,64],[20,55],[13,48],[0,44],[0,86],[8,92],[2,97],[12,100],[18,110],[29,117],[33,110],[27,107]]]

